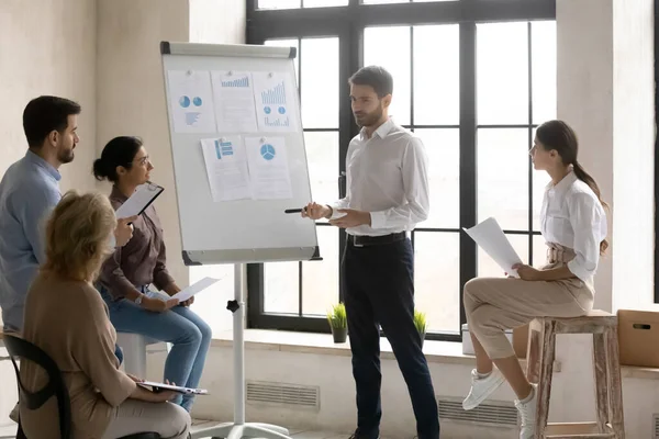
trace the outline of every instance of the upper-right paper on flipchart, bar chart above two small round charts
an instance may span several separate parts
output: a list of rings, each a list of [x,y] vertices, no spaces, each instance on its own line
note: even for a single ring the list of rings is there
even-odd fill
[[[297,89],[289,74],[254,72],[254,100],[261,132],[293,132]]]

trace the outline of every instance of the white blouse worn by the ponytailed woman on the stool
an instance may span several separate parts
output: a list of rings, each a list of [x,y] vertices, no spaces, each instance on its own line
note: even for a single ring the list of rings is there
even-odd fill
[[[540,232],[547,243],[569,247],[577,255],[570,271],[591,283],[600,262],[600,243],[606,237],[606,214],[597,195],[574,172],[549,183],[540,211]]]

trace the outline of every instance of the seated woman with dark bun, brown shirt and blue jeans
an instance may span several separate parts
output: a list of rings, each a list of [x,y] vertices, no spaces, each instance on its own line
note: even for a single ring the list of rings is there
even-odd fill
[[[141,184],[148,183],[154,169],[137,137],[115,137],[93,164],[98,180],[114,185],[110,202],[119,209]],[[170,299],[180,291],[166,266],[160,219],[153,205],[137,219],[133,239],[102,266],[99,291],[110,309],[118,331],[147,336],[172,344],[165,362],[165,380],[197,387],[211,342],[211,328],[189,306],[193,299],[178,303]],[[153,285],[164,293],[152,291]],[[193,395],[175,401],[190,412]]]

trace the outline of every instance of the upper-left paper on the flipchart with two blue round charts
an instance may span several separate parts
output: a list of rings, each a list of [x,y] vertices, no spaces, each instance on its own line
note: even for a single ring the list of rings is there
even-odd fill
[[[211,74],[206,70],[167,72],[176,133],[216,133]]]

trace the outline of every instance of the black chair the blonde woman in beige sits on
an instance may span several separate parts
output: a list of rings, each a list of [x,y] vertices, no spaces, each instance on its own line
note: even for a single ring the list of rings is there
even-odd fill
[[[27,408],[35,410],[44,405],[49,398],[57,398],[57,408],[59,410],[59,435],[62,439],[71,438],[71,403],[69,399],[68,390],[62,379],[62,373],[57,364],[46,352],[41,350],[33,344],[18,338],[15,336],[4,335],[4,346],[11,358],[14,370],[16,372],[16,381],[19,383],[19,398],[23,399]],[[48,374],[48,383],[37,392],[29,392],[23,387],[21,374],[16,359],[22,358],[41,365]],[[19,431],[16,439],[26,439],[23,428],[19,419]],[[119,439],[160,439],[160,435],[156,432],[141,432],[131,436],[124,436]]]

